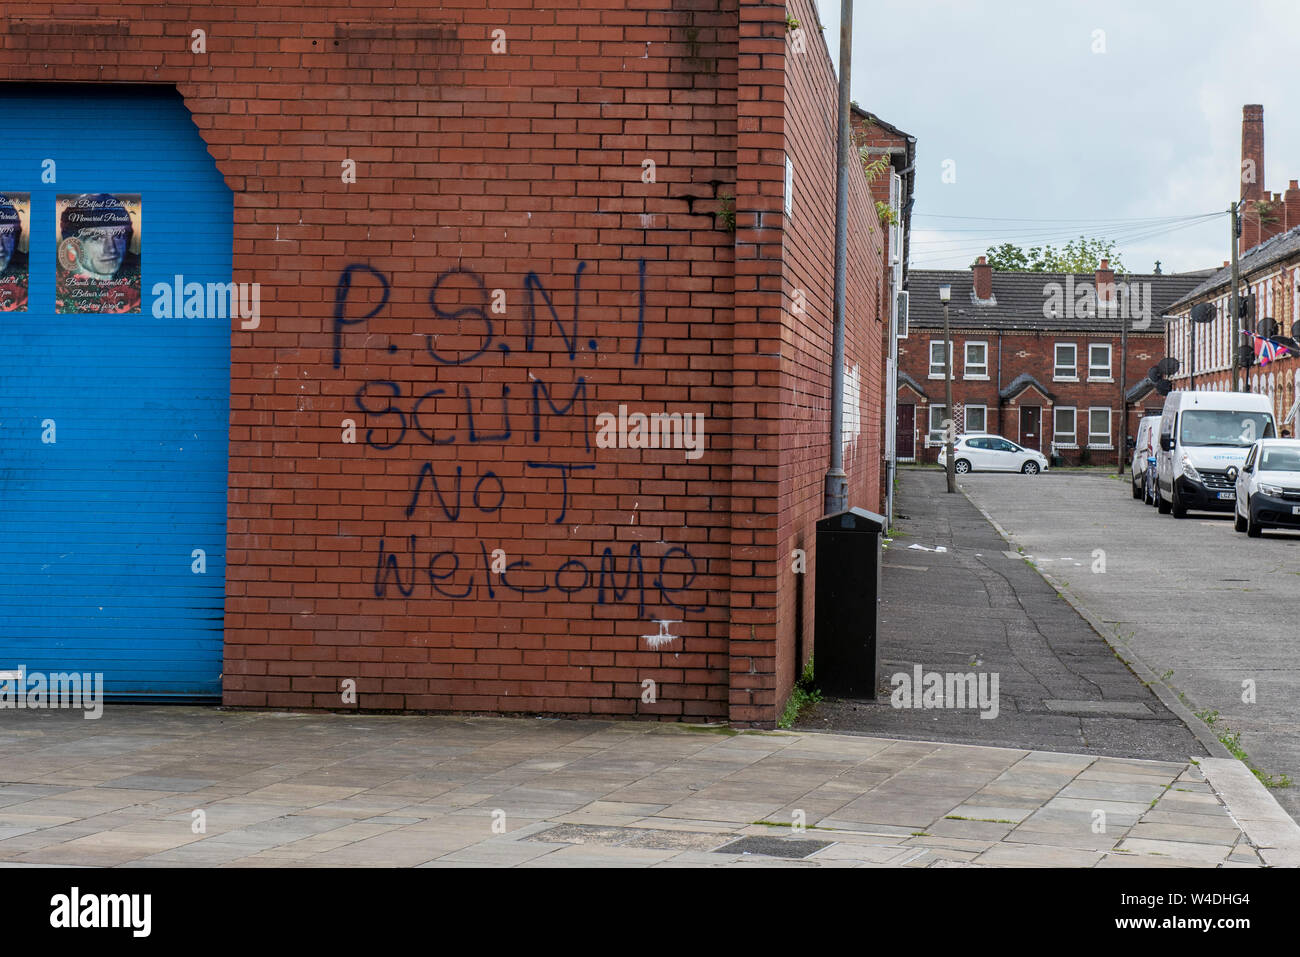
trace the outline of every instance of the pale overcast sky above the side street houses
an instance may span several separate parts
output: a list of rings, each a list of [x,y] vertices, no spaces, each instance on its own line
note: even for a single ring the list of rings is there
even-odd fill
[[[816,3],[838,61],[840,0]],[[914,268],[1082,231],[1180,272],[1228,256],[1243,104],[1264,104],[1266,189],[1300,178],[1297,42],[1295,0],[858,0],[852,90],[916,137]]]

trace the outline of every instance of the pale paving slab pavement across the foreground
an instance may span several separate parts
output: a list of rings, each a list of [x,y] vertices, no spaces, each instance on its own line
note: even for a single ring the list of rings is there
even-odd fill
[[[0,865],[1300,863],[1300,828],[1219,763],[1235,768],[632,722],[3,711]]]

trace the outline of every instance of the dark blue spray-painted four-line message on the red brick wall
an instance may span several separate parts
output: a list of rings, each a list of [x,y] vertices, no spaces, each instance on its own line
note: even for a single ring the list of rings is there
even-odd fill
[[[525,334],[524,351],[534,352],[538,347],[540,333],[552,328],[558,330],[560,341],[568,352],[571,363],[577,360],[581,333],[580,333],[580,295],[582,273],[586,263],[580,263],[573,273],[573,309],[568,321],[560,317],[555,304],[546,291],[545,285],[537,273],[528,273],[524,281],[525,290]],[[368,274],[380,283],[380,302],[365,315],[348,317],[348,300],[354,290],[354,276]],[[480,303],[452,307],[439,293],[445,283],[452,277],[463,277],[471,283],[471,293],[477,290]],[[450,290],[451,286],[447,286]],[[364,263],[348,265],[339,274],[334,290],[334,368],[342,368],[343,363],[343,337],[348,328],[359,326],[378,316],[387,306],[391,289],[387,278],[377,269]],[[450,296],[447,296],[450,298]],[[478,348],[460,355],[450,356],[441,354],[436,347],[437,337],[425,333],[425,351],[438,365],[458,367],[468,365],[491,350],[497,338],[497,329],[489,313],[490,296],[488,285],[482,276],[463,267],[448,269],[441,273],[429,290],[429,307],[438,320],[450,320],[460,324],[471,320],[478,325]],[[546,321],[540,330],[538,306],[545,309]],[[463,334],[463,333],[462,333]],[[638,264],[637,286],[637,334],[634,346],[634,363],[641,364],[642,337],[645,334],[645,260]],[[506,342],[497,342],[499,351],[508,354],[510,346]],[[588,348],[595,351],[597,342],[588,341]],[[394,347],[389,347],[394,351]],[[569,384],[568,394],[560,382],[550,385],[536,373],[532,377],[530,402],[526,411],[532,413],[532,429],[516,437],[510,421],[510,386],[499,386],[499,428],[497,430],[480,430],[474,423],[474,395],[467,384],[455,386],[455,395],[464,399],[465,415],[464,429],[450,430],[438,436],[430,424],[421,420],[421,412],[428,402],[437,403],[438,397],[447,397],[447,389],[429,389],[420,395],[404,395],[402,385],[387,378],[376,378],[363,382],[354,395],[354,404],[367,416],[365,445],[367,447],[387,452],[407,441],[424,442],[428,445],[468,445],[507,443],[511,439],[524,445],[541,446],[542,436],[552,428],[578,428],[584,436],[584,451],[588,456],[593,454],[592,433],[589,428],[590,415],[588,408],[588,385],[584,376],[576,376]],[[482,397],[481,397],[482,398]],[[495,397],[494,397],[495,398]],[[486,398],[484,398],[486,408]],[[543,429],[543,426],[546,426]],[[385,439],[385,441],[381,441]],[[575,450],[576,451],[576,450]],[[538,462],[525,460],[525,465],[540,476],[552,475],[560,482],[560,505],[555,510],[554,518],[547,516],[550,524],[564,521],[571,507],[569,478],[578,472],[595,471],[595,463],[585,462]],[[465,465],[456,464],[455,475],[439,476],[433,462],[422,463],[415,473],[411,489],[411,499],[406,507],[406,518],[412,519],[424,507],[434,508],[437,520],[456,525],[463,520],[481,523],[493,518],[499,518],[507,505],[508,492],[506,482],[493,471],[485,471],[473,476],[473,490],[469,493],[469,508],[465,508],[465,488],[471,476],[465,475]],[[463,541],[463,537],[459,537]],[[391,549],[389,547],[391,542]],[[595,558],[569,558],[554,570],[534,568],[528,559],[516,558],[514,562],[498,564],[498,571],[493,571],[494,562],[488,544],[477,541],[478,555],[474,562],[465,562],[464,557],[454,547],[438,547],[437,544],[421,545],[419,536],[408,534],[404,538],[390,540],[382,537],[378,541],[377,559],[374,567],[374,594],[380,598],[389,596],[410,597],[415,594],[419,584],[426,583],[432,592],[445,598],[468,598],[474,594],[474,589],[481,586],[489,598],[495,598],[498,592],[515,593],[520,596],[541,596],[555,593],[568,599],[595,601],[598,605],[612,602],[634,602],[637,615],[644,616],[647,603],[662,607],[671,606],[682,611],[702,611],[703,605],[686,603],[686,593],[694,585],[701,573],[698,562],[690,551],[681,545],[673,545],[664,550],[656,559],[647,559],[641,554],[638,542],[618,544],[620,554],[615,553],[615,545],[603,546],[599,559]],[[478,558],[481,557],[481,568]],[[649,577],[646,563],[656,570]],[[621,572],[620,572],[621,563]],[[478,579],[478,575],[482,579]],[[514,577],[512,577],[514,576]],[[621,576],[621,584],[620,584]],[[533,584],[525,584],[532,580]]]

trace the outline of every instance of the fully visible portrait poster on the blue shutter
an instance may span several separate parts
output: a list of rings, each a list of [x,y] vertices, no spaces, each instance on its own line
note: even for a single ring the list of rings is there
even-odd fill
[[[55,312],[140,311],[139,194],[57,196],[55,241]]]

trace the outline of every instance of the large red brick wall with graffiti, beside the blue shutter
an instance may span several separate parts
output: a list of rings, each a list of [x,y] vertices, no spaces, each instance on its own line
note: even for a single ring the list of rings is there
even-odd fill
[[[786,82],[780,7],[576,7],[30,3],[6,31],[0,81],[174,85],[234,191],[263,317],[231,332],[229,705],[339,707],[346,679],[361,709],[771,724],[784,702],[833,177],[785,263],[781,150],[831,169],[833,77],[810,36]],[[849,367],[875,369],[867,259]],[[864,377],[863,439],[878,399]],[[595,447],[620,404],[702,412],[705,454]],[[878,458],[854,449],[855,489]]]

